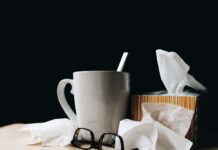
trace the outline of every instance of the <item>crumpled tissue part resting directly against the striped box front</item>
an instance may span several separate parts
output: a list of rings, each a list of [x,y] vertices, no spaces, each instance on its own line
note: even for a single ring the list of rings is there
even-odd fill
[[[142,108],[159,121],[161,124],[172,129],[185,137],[187,134],[194,112],[172,104],[143,103]]]

